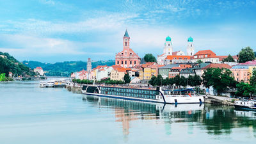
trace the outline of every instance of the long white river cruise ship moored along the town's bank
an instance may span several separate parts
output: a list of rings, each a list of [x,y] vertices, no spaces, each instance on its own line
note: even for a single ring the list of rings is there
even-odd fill
[[[82,93],[86,95],[97,95],[114,99],[138,100],[145,102],[161,102],[164,104],[201,104],[204,97],[195,95],[193,89],[170,90],[157,87],[131,88],[121,86],[97,86],[84,85]]]

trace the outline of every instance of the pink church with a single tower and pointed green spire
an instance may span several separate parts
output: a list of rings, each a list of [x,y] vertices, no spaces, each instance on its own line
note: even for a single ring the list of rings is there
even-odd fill
[[[125,68],[139,65],[141,58],[130,48],[130,36],[127,30],[125,31],[123,39],[123,51],[116,54],[116,65]]]

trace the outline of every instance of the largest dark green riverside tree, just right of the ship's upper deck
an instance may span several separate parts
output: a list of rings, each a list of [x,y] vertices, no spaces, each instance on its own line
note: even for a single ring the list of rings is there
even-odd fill
[[[206,88],[212,86],[218,93],[234,84],[232,72],[227,68],[208,68],[203,74],[203,84]]]

